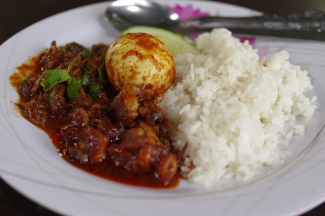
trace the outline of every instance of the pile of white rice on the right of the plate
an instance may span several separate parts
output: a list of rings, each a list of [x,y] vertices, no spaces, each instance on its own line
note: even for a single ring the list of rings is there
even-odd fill
[[[225,28],[196,39],[202,54],[174,57],[176,76],[161,103],[173,146],[187,143],[181,171],[197,183],[248,179],[265,165],[283,162],[279,136],[302,135],[316,97],[306,70],[282,50],[259,59],[248,41]]]

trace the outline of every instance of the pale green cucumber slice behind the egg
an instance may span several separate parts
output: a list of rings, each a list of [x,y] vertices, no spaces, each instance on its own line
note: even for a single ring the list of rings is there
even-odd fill
[[[169,30],[165,30],[158,27],[135,25],[126,28],[121,32],[121,35],[131,32],[144,32],[151,34],[161,40],[169,49],[171,55],[190,52],[193,54],[199,54],[201,51],[196,48],[194,42],[190,42],[180,34],[173,33]]]

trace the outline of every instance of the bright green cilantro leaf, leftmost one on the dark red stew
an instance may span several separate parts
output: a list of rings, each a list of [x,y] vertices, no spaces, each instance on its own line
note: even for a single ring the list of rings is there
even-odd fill
[[[45,76],[40,83],[44,87],[44,92],[49,91],[54,85],[64,82],[69,78],[66,69],[49,69],[46,70]]]

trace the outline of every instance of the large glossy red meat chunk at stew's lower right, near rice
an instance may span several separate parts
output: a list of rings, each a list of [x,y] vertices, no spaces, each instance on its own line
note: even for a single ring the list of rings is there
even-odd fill
[[[156,168],[161,179],[165,181],[170,180],[177,171],[176,156],[167,156],[168,151],[165,150],[164,144],[157,137],[155,131],[143,121],[138,121],[136,127],[126,130],[118,147],[116,144],[108,146],[107,153],[114,158],[115,163],[123,165],[128,163],[125,162],[122,155],[133,155],[133,171],[148,171],[151,168]],[[118,159],[120,161],[117,162]],[[176,162],[175,167],[174,162]]]

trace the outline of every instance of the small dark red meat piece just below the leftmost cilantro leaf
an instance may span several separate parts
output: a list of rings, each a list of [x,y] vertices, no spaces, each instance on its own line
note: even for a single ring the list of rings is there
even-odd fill
[[[49,104],[51,107],[51,112],[54,115],[61,115],[65,112],[65,86],[61,83],[56,84],[52,89],[52,96],[49,98]]]

